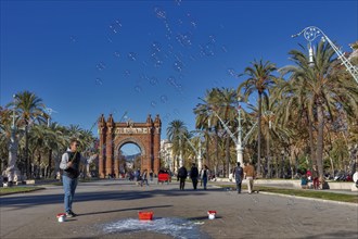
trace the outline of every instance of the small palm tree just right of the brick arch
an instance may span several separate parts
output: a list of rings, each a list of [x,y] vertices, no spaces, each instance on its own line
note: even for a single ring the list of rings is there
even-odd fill
[[[167,137],[168,140],[172,143],[172,152],[174,155],[180,155],[180,151],[183,150],[183,143],[186,139],[183,139],[183,135],[188,133],[188,128],[186,124],[180,120],[175,120],[169,123],[167,128]],[[182,159],[180,159],[182,160]],[[180,162],[182,164],[182,162]],[[181,166],[181,165],[180,165]]]

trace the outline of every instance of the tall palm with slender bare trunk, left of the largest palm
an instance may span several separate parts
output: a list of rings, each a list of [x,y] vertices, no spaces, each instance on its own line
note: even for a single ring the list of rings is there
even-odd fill
[[[267,89],[274,85],[276,76],[272,74],[277,70],[276,65],[269,61],[263,62],[256,60],[252,62],[252,66],[247,66],[242,75],[248,76],[239,88],[238,93],[244,90],[243,96],[247,98],[253,93],[258,93],[258,138],[257,138],[257,174],[260,175],[260,158],[261,158],[261,98],[267,97]]]

